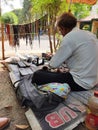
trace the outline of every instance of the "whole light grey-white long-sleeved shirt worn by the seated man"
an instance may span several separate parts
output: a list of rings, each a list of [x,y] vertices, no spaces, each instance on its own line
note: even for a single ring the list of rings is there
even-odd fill
[[[97,83],[97,46],[94,34],[75,27],[64,36],[60,48],[50,60],[50,66],[57,68],[66,62],[75,82],[91,89]]]

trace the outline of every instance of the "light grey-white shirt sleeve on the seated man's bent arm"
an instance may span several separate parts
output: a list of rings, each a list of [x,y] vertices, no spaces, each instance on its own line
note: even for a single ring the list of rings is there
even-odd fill
[[[70,46],[70,43],[68,43],[66,40],[63,40],[60,48],[51,58],[49,62],[49,66],[51,68],[58,68],[60,65],[62,65],[63,62],[66,62],[66,60],[71,55],[72,55],[72,48]]]

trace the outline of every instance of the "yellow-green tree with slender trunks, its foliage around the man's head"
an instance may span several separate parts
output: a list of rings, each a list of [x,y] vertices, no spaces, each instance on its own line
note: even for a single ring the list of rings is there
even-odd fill
[[[69,4],[66,0],[31,0],[32,1],[32,13],[36,14],[36,18],[47,14],[48,15],[48,33],[51,52],[56,50],[55,43],[55,22],[58,15],[69,10]],[[91,6],[85,4],[72,4],[71,12],[77,17],[77,19],[84,18],[89,15]],[[82,12],[82,13],[81,13]],[[53,34],[53,43],[51,40],[51,30]],[[54,46],[53,46],[54,45]]]

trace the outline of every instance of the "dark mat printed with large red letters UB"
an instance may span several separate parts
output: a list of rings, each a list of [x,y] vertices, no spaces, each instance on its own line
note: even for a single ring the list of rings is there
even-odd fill
[[[86,107],[69,95],[57,108],[51,111],[34,112],[34,114],[42,130],[72,130],[84,121]]]

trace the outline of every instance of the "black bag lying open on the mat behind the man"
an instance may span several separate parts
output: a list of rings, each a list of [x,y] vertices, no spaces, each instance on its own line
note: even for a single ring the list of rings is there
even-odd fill
[[[16,95],[22,102],[22,106],[30,107],[34,111],[47,111],[54,109],[64,101],[64,98],[52,92],[40,90],[32,84],[32,76],[23,77],[17,87]]]

